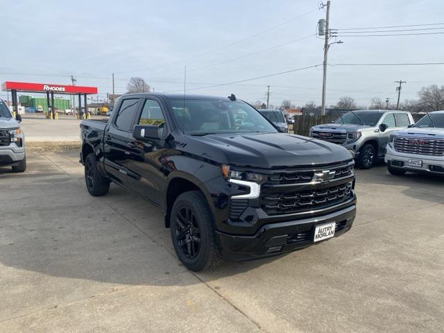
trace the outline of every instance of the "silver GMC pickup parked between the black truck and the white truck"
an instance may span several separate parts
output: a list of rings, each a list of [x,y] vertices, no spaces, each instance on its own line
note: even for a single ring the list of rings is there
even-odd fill
[[[362,169],[384,159],[388,137],[414,123],[410,112],[398,110],[356,110],[333,123],[313,126],[309,136],[340,144],[350,151]]]

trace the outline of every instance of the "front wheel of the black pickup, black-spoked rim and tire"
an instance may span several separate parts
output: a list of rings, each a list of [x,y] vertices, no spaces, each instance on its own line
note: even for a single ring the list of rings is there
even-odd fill
[[[222,262],[216,244],[210,207],[200,191],[187,191],[174,202],[170,218],[174,250],[190,271],[202,271]]]

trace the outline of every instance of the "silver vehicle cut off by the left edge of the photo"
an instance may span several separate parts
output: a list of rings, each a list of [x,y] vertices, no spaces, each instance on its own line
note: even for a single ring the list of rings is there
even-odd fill
[[[26,170],[25,137],[20,127],[22,116],[12,117],[8,105],[0,99],[0,165],[12,167],[12,172]]]

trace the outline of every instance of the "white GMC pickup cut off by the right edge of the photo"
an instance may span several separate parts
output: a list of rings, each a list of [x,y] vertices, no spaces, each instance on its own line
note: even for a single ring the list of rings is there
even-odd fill
[[[444,176],[444,111],[431,112],[390,135],[385,162],[393,175],[414,171]]]

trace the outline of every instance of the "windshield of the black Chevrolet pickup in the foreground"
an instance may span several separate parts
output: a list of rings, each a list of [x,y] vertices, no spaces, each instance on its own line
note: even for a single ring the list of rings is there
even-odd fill
[[[243,101],[170,99],[168,103],[178,127],[187,134],[277,133],[271,123]]]

